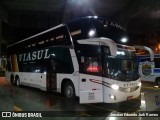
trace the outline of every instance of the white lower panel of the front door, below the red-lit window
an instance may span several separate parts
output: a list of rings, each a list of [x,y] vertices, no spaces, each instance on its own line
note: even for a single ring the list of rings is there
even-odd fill
[[[80,103],[103,102],[102,77],[80,74]]]

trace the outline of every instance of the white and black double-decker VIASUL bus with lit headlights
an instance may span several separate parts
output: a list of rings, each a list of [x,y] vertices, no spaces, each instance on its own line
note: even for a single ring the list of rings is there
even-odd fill
[[[117,103],[139,97],[141,82],[126,31],[84,17],[7,47],[6,77],[13,85],[80,98],[80,103]],[[122,40],[122,41],[121,41]]]

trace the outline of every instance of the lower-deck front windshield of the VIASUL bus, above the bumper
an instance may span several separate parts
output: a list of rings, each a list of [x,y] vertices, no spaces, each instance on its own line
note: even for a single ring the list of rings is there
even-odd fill
[[[118,51],[117,56],[105,56],[104,76],[119,81],[133,81],[139,78],[134,52]]]

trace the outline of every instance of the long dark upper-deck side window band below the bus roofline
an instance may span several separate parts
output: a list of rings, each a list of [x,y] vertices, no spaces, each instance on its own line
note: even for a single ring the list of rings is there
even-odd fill
[[[22,51],[43,48],[53,45],[72,45],[66,26],[59,27],[31,39],[8,47],[7,53],[14,54]]]

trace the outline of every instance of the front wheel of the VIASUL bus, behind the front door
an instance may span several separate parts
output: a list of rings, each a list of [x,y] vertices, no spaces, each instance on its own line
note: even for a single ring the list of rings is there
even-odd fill
[[[64,96],[68,99],[75,98],[75,89],[72,82],[67,82],[64,86]]]

